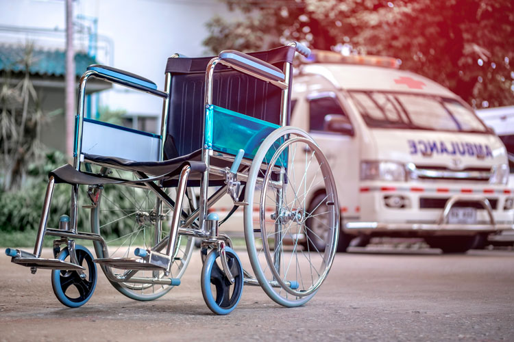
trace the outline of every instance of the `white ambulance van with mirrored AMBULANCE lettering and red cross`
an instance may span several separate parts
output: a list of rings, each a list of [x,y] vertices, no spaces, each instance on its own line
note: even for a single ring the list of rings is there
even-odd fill
[[[456,94],[389,57],[313,51],[297,70],[291,125],[334,173],[339,251],[354,237],[422,237],[458,253],[513,230],[505,146]]]

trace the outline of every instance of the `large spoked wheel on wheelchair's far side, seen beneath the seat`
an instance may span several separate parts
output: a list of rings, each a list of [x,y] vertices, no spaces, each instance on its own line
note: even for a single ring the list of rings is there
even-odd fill
[[[134,179],[132,172],[101,168],[102,174],[121,179]],[[91,209],[91,231],[100,234],[107,243],[107,255],[99,243],[95,242],[98,258],[133,258],[136,248],[151,249],[156,242],[169,234],[169,224],[173,211],[162,205],[160,213],[156,195],[151,190],[136,185],[105,185],[103,188],[91,189],[93,197],[98,196],[97,205]],[[170,191],[174,198],[174,190]],[[193,196],[194,198],[194,196]],[[192,205],[184,201],[184,210]],[[160,224],[160,228],[158,228]],[[175,259],[171,274],[166,278],[181,278],[191,259],[194,241],[192,237],[178,237]],[[165,248],[165,246],[163,247]],[[164,272],[151,270],[117,269],[102,265],[101,269],[115,289],[134,300],[155,300],[170,291],[172,285],[141,284],[117,282],[112,278],[123,279],[128,275],[138,278],[163,278]]]

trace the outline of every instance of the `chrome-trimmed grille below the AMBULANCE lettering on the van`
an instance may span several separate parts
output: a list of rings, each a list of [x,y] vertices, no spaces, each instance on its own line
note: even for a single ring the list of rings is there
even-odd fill
[[[409,164],[411,179],[442,180],[442,181],[478,181],[488,182],[491,178],[491,168],[465,168],[451,170],[445,166],[425,166]]]

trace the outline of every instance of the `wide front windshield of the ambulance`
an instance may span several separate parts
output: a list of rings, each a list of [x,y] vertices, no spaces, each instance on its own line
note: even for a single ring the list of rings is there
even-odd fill
[[[458,101],[424,94],[350,92],[372,128],[487,133],[487,127]]]

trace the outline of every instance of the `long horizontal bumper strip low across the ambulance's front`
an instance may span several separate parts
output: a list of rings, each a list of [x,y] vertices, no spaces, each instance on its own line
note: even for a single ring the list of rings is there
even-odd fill
[[[382,222],[347,222],[345,233],[354,235],[388,235],[390,233],[408,233],[408,235],[475,235],[476,233],[499,233],[513,231],[514,224],[425,224],[425,223],[382,223]]]

